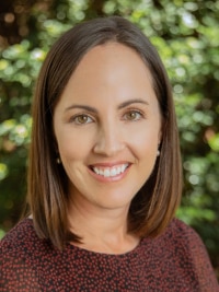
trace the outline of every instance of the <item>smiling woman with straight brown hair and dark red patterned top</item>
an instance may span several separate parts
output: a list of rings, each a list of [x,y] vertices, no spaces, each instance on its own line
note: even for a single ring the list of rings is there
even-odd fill
[[[1,242],[2,291],[219,291],[174,219],[181,157],[171,86],[123,17],[77,25],[36,86],[28,218]]]

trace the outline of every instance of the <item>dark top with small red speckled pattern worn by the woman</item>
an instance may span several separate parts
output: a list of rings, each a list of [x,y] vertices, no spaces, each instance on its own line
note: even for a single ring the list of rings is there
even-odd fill
[[[173,220],[157,238],[123,255],[99,254],[39,240],[31,219],[0,243],[0,291],[219,292],[198,235]]]

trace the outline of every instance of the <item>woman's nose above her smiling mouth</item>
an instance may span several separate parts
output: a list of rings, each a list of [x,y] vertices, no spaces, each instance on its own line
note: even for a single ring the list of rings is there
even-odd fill
[[[93,151],[105,156],[115,156],[125,148],[123,132],[111,122],[99,129]]]

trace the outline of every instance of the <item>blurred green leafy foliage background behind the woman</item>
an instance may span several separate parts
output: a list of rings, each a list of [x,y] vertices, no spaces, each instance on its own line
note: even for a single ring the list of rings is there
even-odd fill
[[[168,69],[184,171],[177,217],[199,233],[219,277],[218,0],[0,0],[0,237],[24,205],[30,108],[42,62],[62,32],[112,14],[136,23]]]

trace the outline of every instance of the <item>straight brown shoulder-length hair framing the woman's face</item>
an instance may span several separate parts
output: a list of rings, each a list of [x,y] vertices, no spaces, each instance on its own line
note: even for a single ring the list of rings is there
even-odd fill
[[[68,80],[82,57],[93,47],[117,42],[139,54],[152,75],[162,115],[162,141],[154,170],[130,203],[128,231],[137,236],[157,236],[170,223],[181,200],[182,171],[172,90],[162,61],[149,39],[120,16],[95,19],[65,33],[48,52],[33,101],[27,206],[41,238],[58,248],[80,242],[69,232],[68,177],[57,164],[53,113]]]

